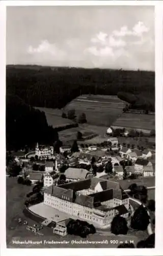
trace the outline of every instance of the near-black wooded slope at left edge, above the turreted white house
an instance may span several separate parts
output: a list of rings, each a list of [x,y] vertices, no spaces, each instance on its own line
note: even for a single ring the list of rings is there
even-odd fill
[[[25,104],[18,96],[6,96],[6,145],[7,150],[19,150],[25,145],[34,147],[36,142],[52,144],[58,133],[46,121],[45,113]]]

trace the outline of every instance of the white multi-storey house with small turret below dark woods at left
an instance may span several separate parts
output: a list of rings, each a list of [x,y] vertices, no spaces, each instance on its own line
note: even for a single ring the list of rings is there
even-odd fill
[[[35,148],[35,155],[38,156],[40,160],[53,158],[53,146],[39,145],[37,143]]]

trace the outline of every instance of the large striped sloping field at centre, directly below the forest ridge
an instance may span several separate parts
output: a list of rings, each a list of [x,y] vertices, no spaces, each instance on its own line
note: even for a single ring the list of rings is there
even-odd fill
[[[67,104],[65,112],[75,109],[76,116],[84,112],[89,124],[107,127],[122,114],[124,105],[117,96],[82,95]]]

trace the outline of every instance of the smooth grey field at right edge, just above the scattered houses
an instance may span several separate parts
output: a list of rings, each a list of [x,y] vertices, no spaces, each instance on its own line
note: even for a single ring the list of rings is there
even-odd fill
[[[147,131],[155,130],[155,115],[124,113],[113,123],[113,126]]]

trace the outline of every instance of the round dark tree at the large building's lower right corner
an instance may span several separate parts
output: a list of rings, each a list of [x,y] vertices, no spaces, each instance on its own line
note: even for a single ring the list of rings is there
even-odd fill
[[[128,226],[125,218],[117,215],[114,217],[111,223],[111,232],[113,234],[127,234]]]

